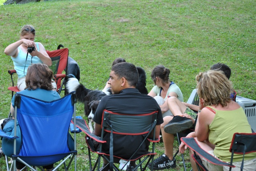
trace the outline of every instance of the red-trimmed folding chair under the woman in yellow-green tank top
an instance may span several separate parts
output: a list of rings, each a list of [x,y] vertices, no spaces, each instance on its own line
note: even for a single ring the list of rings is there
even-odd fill
[[[240,167],[240,170],[243,170],[244,166],[244,155],[252,152],[256,152],[256,133],[234,133],[233,139],[230,145],[230,163],[226,163],[224,161],[221,161],[214,157],[213,155],[210,155],[206,151],[204,151],[196,142],[194,137],[182,137],[181,141],[189,147],[189,149],[194,151],[194,154],[192,154],[192,157],[194,161],[196,161],[196,165],[198,167],[198,170],[200,170],[200,167],[204,171],[208,171],[199,156],[204,157],[206,160],[210,161],[210,163],[213,163],[214,165],[223,165],[230,167],[230,171],[232,170],[234,165],[232,165],[234,154],[242,154],[243,160]]]

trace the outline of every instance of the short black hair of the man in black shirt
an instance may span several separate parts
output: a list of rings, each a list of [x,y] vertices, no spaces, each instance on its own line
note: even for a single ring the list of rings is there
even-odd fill
[[[125,78],[130,86],[136,86],[139,80],[139,73],[135,65],[128,62],[121,62],[112,66],[112,71],[118,79]]]

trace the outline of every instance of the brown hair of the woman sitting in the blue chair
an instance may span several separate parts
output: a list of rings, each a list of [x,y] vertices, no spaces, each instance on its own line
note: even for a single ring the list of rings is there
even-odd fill
[[[28,67],[25,89],[47,89],[52,90],[52,70],[46,64],[32,64]]]

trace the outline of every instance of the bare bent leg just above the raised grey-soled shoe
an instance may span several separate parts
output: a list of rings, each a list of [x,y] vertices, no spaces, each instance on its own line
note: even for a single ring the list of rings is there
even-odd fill
[[[173,116],[182,115],[187,107],[177,99],[177,97],[169,97],[167,99],[167,105],[173,114]]]

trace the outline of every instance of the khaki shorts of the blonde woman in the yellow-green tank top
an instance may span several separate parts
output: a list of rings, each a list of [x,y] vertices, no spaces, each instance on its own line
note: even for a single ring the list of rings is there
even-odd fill
[[[208,151],[208,153],[216,157],[216,155],[214,155],[213,150]],[[219,159],[218,157],[216,158]],[[228,166],[214,165],[204,158],[202,158],[202,163],[206,167],[206,169],[208,169],[209,171],[229,171],[229,168],[230,168]],[[232,165],[236,167],[233,167],[232,171],[240,171],[241,164],[242,164],[242,161],[233,162]],[[245,160],[243,171],[256,171],[256,158],[251,160]]]

